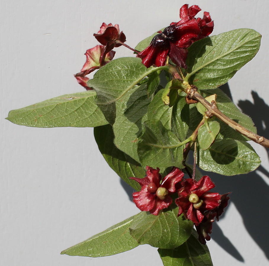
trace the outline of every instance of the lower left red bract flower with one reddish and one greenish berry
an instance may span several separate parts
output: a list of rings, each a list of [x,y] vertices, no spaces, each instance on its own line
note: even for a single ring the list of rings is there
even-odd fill
[[[181,181],[184,173],[174,167],[160,184],[162,179],[159,174],[160,169],[147,166],[146,170],[146,177],[130,178],[141,185],[140,192],[133,193],[133,202],[141,211],[149,211],[151,214],[158,215],[160,210],[167,208],[172,203],[169,195],[176,192],[176,184]]]

